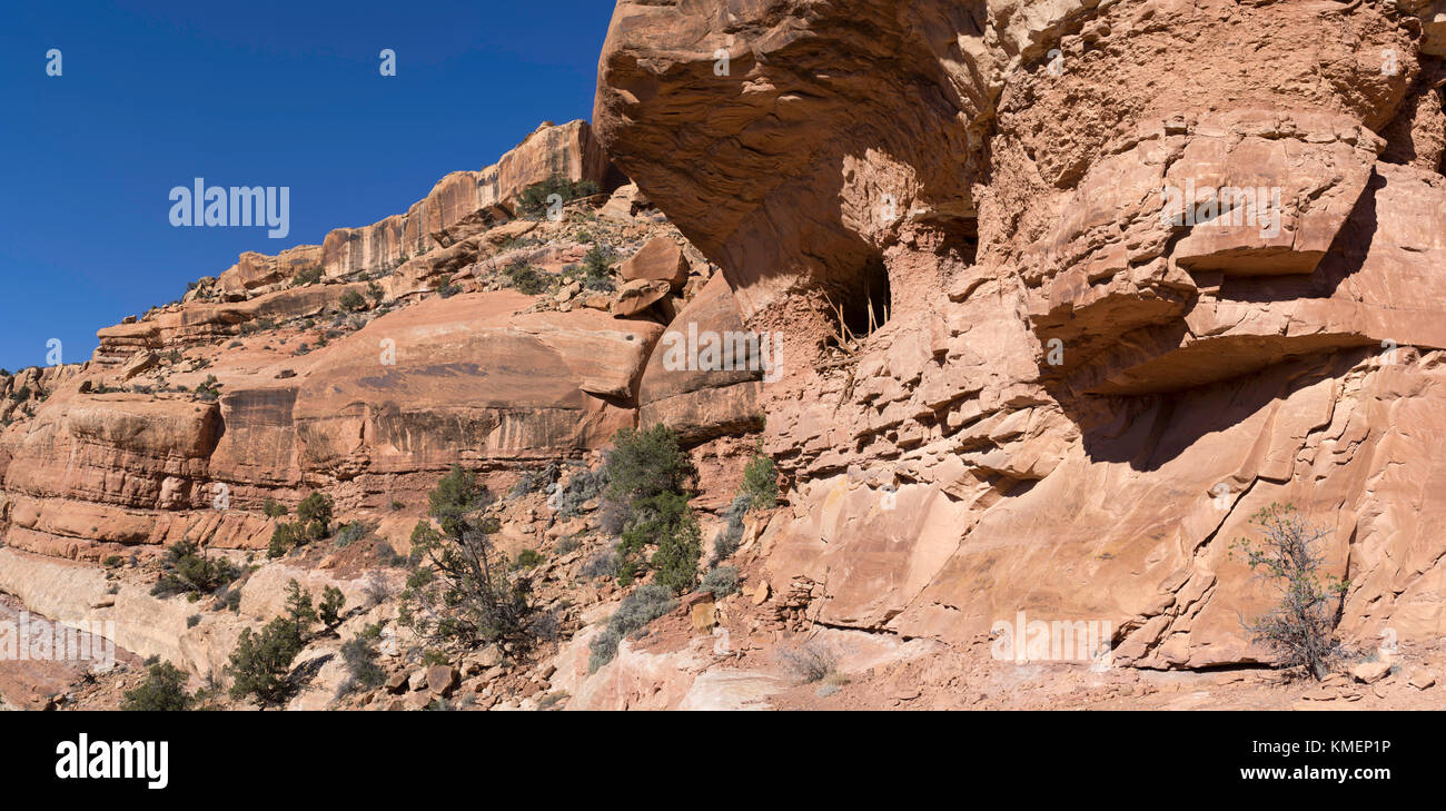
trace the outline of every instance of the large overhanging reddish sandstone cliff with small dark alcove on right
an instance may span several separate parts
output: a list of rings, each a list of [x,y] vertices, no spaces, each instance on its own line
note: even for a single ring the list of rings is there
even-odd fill
[[[1440,16],[619,1],[596,130],[782,346],[774,588],[905,636],[1025,612],[1138,666],[1267,661],[1228,546],[1290,502],[1343,633],[1446,632]]]

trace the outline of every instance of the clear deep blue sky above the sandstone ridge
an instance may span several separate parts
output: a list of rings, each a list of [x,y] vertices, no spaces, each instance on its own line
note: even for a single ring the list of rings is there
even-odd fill
[[[406,210],[544,120],[589,119],[609,0],[6,3],[0,367]],[[46,52],[61,51],[61,77]],[[396,52],[382,77],[379,52]],[[291,188],[291,236],[176,228],[171,188]]]

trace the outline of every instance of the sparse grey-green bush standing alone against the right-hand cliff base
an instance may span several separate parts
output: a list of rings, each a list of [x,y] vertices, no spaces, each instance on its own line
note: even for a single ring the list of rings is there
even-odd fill
[[[1241,538],[1231,545],[1257,574],[1278,590],[1275,607],[1245,622],[1257,643],[1277,655],[1283,668],[1301,668],[1314,679],[1326,678],[1343,655],[1335,635],[1336,607],[1349,581],[1333,575],[1320,581],[1320,552],[1329,531],[1307,523],[1291,505],[1270,505],[1251,518],[1262,538]]]

